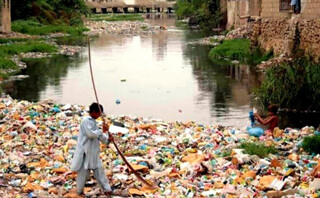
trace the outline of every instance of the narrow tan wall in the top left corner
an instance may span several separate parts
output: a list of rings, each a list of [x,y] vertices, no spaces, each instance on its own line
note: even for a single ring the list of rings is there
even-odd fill
[[[11,32],[11,0],[3,0],[0,7],[0,32]]]

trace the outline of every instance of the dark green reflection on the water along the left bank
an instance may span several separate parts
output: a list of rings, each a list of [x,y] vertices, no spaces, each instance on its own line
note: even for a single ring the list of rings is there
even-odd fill
[[[69,72],[79,67],[80,63],[86,61],[86,57],[76,55],[73,58],[58,55],[46,59],[32,59],[28,61],[28,69],[22,70],[22,75],[29,78],[21,81],[9,81],[2,85],[7,94],[13,98],[28,101],[39,101],[43,99],[43,91],[52,88],[51,94],[61,93],[61,84]],[[52,97],[56,99],[56,97]]]

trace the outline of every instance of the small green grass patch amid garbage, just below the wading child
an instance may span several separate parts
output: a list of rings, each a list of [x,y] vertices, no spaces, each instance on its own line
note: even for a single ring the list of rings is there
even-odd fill
[[[240,145],[249,155],[257,155],[261,158],[267,157],[270,153],[277,153],[274,146],[266,146],[263,143],[244,142]]]

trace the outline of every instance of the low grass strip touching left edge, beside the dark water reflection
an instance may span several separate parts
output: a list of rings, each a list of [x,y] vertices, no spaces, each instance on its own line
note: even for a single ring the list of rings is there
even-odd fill
[[[3,57],[26,52],[56,52],[57,47],[39,41],[27,41],[23,43],[13,43],[2,45],[0,54]]]

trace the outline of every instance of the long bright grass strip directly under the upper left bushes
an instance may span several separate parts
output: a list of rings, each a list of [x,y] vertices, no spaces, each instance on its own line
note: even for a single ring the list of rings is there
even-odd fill
[[[67,25],[44,25],[36,21],[17,20],[12,22],[12,30],[29,35],[48,35],[51,33],[67,33],[71,35],[80,35],[88,31],[84,26],[67,26]]]

